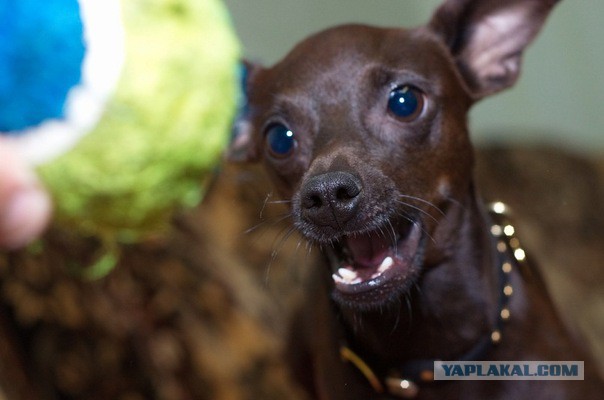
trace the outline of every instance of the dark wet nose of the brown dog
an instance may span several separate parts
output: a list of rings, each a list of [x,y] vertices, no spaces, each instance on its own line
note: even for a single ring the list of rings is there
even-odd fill
[[[327,172],[306,182],[300,193],[302,217],[339,230],[354,216],[361,199],[359,178],[348,172]]]

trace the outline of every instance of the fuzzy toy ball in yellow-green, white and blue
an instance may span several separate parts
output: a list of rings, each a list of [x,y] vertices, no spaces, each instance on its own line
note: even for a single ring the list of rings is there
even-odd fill
[[[55,224],[131,243],[201,200],[238,89],[219,0],[0,0],[0,18],[0,135]]]

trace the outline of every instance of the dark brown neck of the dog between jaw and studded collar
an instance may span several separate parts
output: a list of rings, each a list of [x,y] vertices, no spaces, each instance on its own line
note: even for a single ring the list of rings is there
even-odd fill
[[[407,298],[372,312],[338,310],[350,345],[369,361],[393,365],[459,359],[489,335],[499,307],[497,256],[489,228],[474,193],[452,203]]]

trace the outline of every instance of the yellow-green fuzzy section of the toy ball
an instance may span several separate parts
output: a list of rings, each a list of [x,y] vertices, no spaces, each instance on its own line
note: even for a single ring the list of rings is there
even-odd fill
[[[195,206],[230,134],[239,45],[217,0],[124,0],[126,60],[95,128],[39,168],[55,221],[133,242]]]

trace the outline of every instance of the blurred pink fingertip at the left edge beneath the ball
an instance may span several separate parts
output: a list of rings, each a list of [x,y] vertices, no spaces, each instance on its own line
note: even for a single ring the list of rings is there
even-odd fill
[[[0,246],[15,249],[33,241],[46,227],[50,210],[48,195],[37,187],[13,194],[0,213]]]

